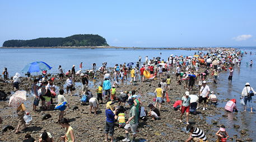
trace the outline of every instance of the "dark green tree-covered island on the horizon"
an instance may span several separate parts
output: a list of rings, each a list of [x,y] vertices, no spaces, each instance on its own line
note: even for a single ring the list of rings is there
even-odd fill
[[[7,40],[3,47],[51,47],[51,46],[101,46],[106,45],[106,39],[99,35],[85,34],[68,37],[40,37],[32,40]]]

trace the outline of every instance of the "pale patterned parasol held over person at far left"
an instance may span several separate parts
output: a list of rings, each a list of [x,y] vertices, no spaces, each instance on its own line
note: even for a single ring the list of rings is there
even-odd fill
[[[16,91],[10,97],[9,107],[18,108],[25,101],[26,101],[26,91]]]

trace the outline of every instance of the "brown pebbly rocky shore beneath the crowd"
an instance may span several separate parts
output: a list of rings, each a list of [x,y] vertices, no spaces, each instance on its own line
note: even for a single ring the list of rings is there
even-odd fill
[[[109,70],[111,69],[112,68],[109,68]],[[199,69],[200,72],[198,73],[201,73],[204,70],[205,68],[201,68]],[[153,121],[150,117],[148,117],[146,121],[140,121],[138,124],[139,132],[137,133],[136,141],[185,141],[189,137],[189,134],[185,133],[185,127],[187,126],[186,124],[184,124],[185,117],[183,117],[184,122],[179,122],[180,112],[173,110],[173,104],[175,103],[175,101],[179,100],[182,96],[184,96],[185,93],[184,82],[182,82],[181,85],[178,85],[175,81],[175,74],[173,74],[173,72],[175,72],[174,69],[171,70],[169,73],[171,77],[171,90],[167,91],[170,102],[162,103],[162,111],[160,112],[161,120]],[[58,74],[48,74],[48,77],[58,78],[57,76]],[[166,78],[166,75],[164,75],[164,78]],[[79,80],[81,80],[80,77],[77,78],[77,82],[80,82]],[[206,80],[208,81],[208,86],[210,86],[211,88],[211,75],[209,75]],[[21,82],[22,83],[20,85],[20,88],[29,93],[31,90],[32,81],[27,81],[26,78],[22,77]],[[97,76],[96,84],[93,84],[91,82],[89,89],[92,94],[94,94],[94,96],[96,96],[96,87],[102,82],[103,81],[99,78],[99,75]],[[149,111],[149,108],[147,106],[149,103],[154,103],[152,101],[154,97],[153,92],[157,88],[157,84],[159,82],[161,81],[157,78],[157,80],[148,80],[143,83],[137,82],[136,85],[133,86],[125,83],[124,81],[124,84],[120,85],[120,87],[117,88],[117,92],[132,91],[134,89],[142,102],[142,106]],[[63,88],[66,91],[66,78],[62,82],[56,79],[54,84],[55,86]],[[104,141],[106,101],[104,100],[104,104],[101,104],[99,106],[96,116],[89,113],[88,104],[83,106],[80,105],[79,102],[81,96],[81,85],[79,84],[81,83],[75,84],[76,91],[73,93],[75,94],[75,96],[65,96],[69,105],[72,107],[65,110],[64,117],[71,120],[70,125],[75,131],[76,141]],[[190,94],[199,94],[199,88],[197,87],[197,84],[198,83],[196,83],[196,86],[194,87],[194,91],[190,91]],[[0,89],[10,93],[13,91],[11,83],[0,83]],[[58,94],[58,90],[56,93]],[[221,96],[223,94],[218,93],[216,95]],[[11,94],[9,94],[9,96],[11,96]],[[228,100],[229,99],[227,98],[225,100],[218,100],[218,102],[226,102]],[[4,131],[0,133],[0,141],[22,141],[25,138],[25,134],[30,134],[33,138],[38,139],[39,135],[43,131],[49,131],[52,134],[54,141],[59,141],[60,136],[64,135],[65,130],[58,123],[56,123],[59,111],[54,110],[55,105],[57,105],[56,98],[54,98],[54,105],[51,106],[50,111],[43,111],[43,109],[40,109],[39,112],[34,112],[32,111],[32,98],[28,95],[25,107],[33,118],[29,125],[27,125],[29,129],[21,131],[21,134],[15,134],[15,130]],[[125,107],[129,108],[128,104],[126,104]],[[215,133],[222,124],[218,123],[218,121],[216,120],[212,120],[208,123],[206,121],[206,117],[221,115],[221,112],[224,112],[225,110],[223,107],[216,107],[214,105],[207,105],[207,108],[207,111],[202,111],[201,109],[199,109],[198,115],[190,114],[189,124],[202,129],[206,133],[208,141],[216,141]],[[39,109],[39,106],[37,107],[37,109]],[[3,124],[0,124],[0,127],[2,128],[5,125],[11,125],[16,129],[18,123],[16,109],[8,107],[8,101],[2,101],[0,102],[0,112],[3,119]],[[50,117],[48,115],[48,118],[41,119],[41,117],[46,113],[49,113]],[[226,117],[226,115],[222,115],[220,119],[226,119]],[[248,134],[246,134],[246,130],[240,130],[239,127],[239,125],[234,125],[234,128],[231,129],[241,131],[241,135],[238,136],[230,134],[230,140],[252,141],[252,139],[249,138]],[[132,134],[129,133],[129,135],[130,138],[132,138]],[[115,127],[114,139],[116,139],[117,141],[122,141],[122,139],[124,139],[124,136],[124,129]]]

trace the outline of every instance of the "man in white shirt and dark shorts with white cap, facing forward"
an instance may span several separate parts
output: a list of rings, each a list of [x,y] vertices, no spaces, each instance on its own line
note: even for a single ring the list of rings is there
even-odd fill
[[[203,81],[203,86],[200,89],[200,96],[199,96],[197,109],[199,108],[201,102],[204,103],[203,111],[207,109],[206,102],[207,102],[209,92],[210,92],[209,86],[206,85],[206,81]]]

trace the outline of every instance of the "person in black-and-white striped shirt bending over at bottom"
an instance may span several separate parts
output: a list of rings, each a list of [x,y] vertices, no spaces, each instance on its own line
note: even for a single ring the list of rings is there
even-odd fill
[[[204,132],[199,129],[198,127],[193,127],[192,125],[188,125],[186,129],[187,133],[190,132],[189,138],[185,142],[189,142],[190,140],[193,141],[207,141],[206,135],[204,135]]]

